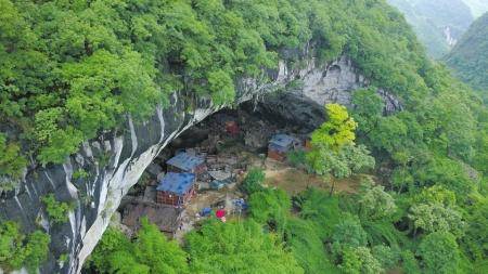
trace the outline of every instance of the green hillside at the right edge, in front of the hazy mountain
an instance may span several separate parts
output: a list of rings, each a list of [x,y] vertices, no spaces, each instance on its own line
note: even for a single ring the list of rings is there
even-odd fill
[[[476,19],[446,57],[454,74],[488,99],[488,13]]]

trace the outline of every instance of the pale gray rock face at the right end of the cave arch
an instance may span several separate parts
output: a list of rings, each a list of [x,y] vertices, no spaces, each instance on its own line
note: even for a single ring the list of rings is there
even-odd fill
[[[298,88],[264,96],[255,106],[256,110],[311,131],[323,122],[325,104],[351,106],[354,92],[370,84],[346,56],[322,68],[311,62],[307,69],[300,71],[299,79]],[[391,93],[383,89],[376,92],[385,102],[385,115],[402,109],[401,103]]]

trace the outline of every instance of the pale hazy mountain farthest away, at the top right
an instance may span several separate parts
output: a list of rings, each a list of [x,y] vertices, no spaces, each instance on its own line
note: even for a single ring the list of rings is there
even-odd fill
[[[474,21],[463,0],[388,0],[412,25],[434,58],[440,58],[461,38]]]

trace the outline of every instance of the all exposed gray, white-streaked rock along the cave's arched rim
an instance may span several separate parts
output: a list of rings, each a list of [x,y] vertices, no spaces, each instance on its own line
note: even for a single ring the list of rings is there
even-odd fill
[[[265,77],[241,80],[236,103],[259,99],[265,102],[260,107],[270,114],[304,120],[310,126],[318,123],[316,119],[321,121],[324,103],[349,104],[352,90],[368,84],[346,57],[324,67],[316,66],[311,60],[303,69],[291,69],[281,62],[278,71],[271,75],[271,81],[264,80]],[[301,89],[266,95],[296,79],[304,82]],[[378,92],[388,99],[386,109],[401,108],[395,97]],[[20,187],[1,196],[0,220],[17,221],[25,232],[42,229],[51,235],[49,259],[41,273],[79,273],[121,198],[152,160],[180,133],[219,108],[208,100],[189,102],[175,93],[168,107],[157,107],[144,122],[138,123],[128,116],[123,130],[87,141],[65,164],[30,167]],[[80,169],[89,177],[75,179],[74,172]],[[40,201],[49,193],[74,205],[68,222],[49,222]],[[59,264],[56,261],[64,253],[69,255],[69,260]]]

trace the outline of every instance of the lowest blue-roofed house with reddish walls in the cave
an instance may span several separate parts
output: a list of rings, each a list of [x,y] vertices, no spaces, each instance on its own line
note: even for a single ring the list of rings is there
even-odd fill
[[[195,174],[169,172],[156,191],[157,203],[182,207],[195,195]]]

